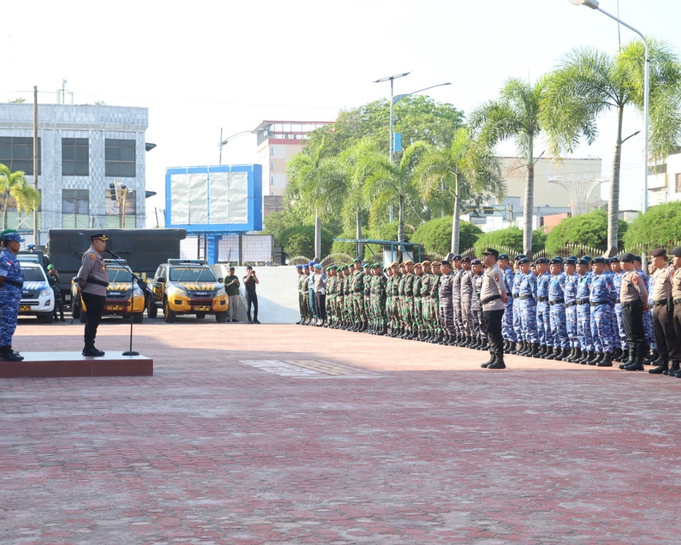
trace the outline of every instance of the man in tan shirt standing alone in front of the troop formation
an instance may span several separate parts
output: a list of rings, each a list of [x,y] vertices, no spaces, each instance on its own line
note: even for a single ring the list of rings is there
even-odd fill
[[[483,252],[488,270],[484,273],[480,290],[482,311],[487,320],[487,335],[490,341],[490,360],[481,365],[487,369],[506,369],[504,362],[504,341],[501,337],[501,320],[508,296],[503,272],[496,264],[499,253],[494,248]]]

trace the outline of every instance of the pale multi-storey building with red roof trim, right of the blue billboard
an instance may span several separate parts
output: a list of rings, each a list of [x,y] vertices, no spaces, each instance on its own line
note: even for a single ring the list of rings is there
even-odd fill
[[[286,163],[300,153],[310,131],[333,121],[263,121],[253,129],[257,159],[262,165],[263,217],[283,210],[281,196],[289,185]]]

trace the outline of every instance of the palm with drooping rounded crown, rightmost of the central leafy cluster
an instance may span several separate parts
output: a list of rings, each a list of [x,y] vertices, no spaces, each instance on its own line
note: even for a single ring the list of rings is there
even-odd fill
[[[424,202],[438,196],[454,199],[451,251],[458,253],[461,201],[484,193],[492,193],[497,200],[503,198],[506,187],[501,161],[491,149],[471,138],[471,129],[460,127],[452,145],[432,149],[418,170],[419,194]]]

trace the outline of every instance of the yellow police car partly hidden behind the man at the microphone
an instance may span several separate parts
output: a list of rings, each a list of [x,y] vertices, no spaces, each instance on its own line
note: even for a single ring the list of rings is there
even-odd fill
[[[144,292],[135,282],[125,260],[104,260],[106,272],[109,274],[109,285],[106,288],[103,316],[123,316],[124,320],[132,320],[136,324],[144,317]],[[76,277],[72,280],[71,296],[76,298]],[[87,322],[87,307],[81,300],[80,307],[74,306],[74,318],[80,317],[80,322]]]

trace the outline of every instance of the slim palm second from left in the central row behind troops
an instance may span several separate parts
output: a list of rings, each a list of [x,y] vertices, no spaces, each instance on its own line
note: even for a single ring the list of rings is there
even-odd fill
[[[363,157],[379,153],[377,141],[373,137],[362,138],[349,149],[340,154],[340,161],[348,173],[347,196],[340,210],[343,227],[347,230],[355,229],[355,238],[362,238],[362,214],[367,206],[364,202],[364,182],[370,174]],[[359,247],[360,257],[364,255],[364,247]]]

